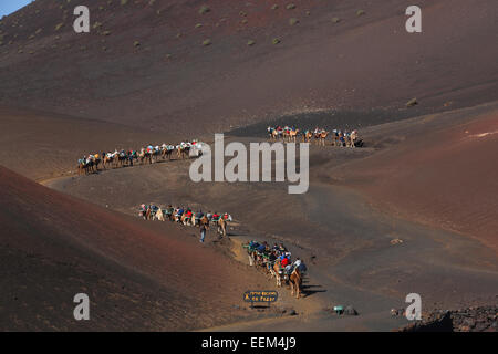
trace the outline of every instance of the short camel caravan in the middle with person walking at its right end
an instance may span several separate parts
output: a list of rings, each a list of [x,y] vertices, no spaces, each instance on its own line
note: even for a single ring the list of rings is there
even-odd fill
[[[194,212],[191,208],[185,207],[168,207],[160,208],[154,204],[141,205],[138,216],[143,217],[144,220],[158,220],[172,222],[179,222],[184,226],[200,227],[203,225],[212,225],[217,227],[217,233],[219,237],[227,237],[228,222],[234,221],[231,215],[228,212],[218,214],[208,211],[206,214],[203,210]]]

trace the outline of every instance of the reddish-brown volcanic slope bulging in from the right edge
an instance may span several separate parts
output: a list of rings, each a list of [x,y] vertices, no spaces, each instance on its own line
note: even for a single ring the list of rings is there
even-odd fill
[[[395,147],[353,163],[351,169],[362,173],[351,179],[392,211],[498,251],[498,110],[478,110],[422,118],[418,127],[434,129],[414,128],[417,134]],[[463,117],[467,122],[452,124]]]

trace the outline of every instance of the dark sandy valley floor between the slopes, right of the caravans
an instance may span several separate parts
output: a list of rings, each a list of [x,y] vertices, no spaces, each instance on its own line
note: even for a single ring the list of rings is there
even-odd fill
[[[323,306],[352,304],[362,313],[357,319],[341,321],[325,312],[314,312],[313,324],[307,324],[305,330],[390,330],[400,321],[391,317],[390,310],[402,306],[409,292],[422,295],[424,311],[496,303],[497,253],[474,239],[486,241],[480,232],[460,235],[444,231],[439,225],[435,228],[413,222],[408,214],[403,214],[404,218],[386,214],[378,204],[386,200],[383,198],[388,200],[390,195],[365,198],[351,188],[363,190],[363,174],[351,171],[365,170],[367,178],[370,160],[401,149],[405,142],[412,154],[423,150],[425,145],[412,145],[412,133],[478,125],[480,115],[495,110],[496,104],[486,105],[363,129],[363,137],[373,146],[382,146],[380,150],[312,147],[311,186],[305,195],[288,195],[284,184],[194,184],[188,177],[188,162],[114,169],[54,180],[50,186],[129,215],[142,202],[229,211],[241,225],[234,235],[283,241],[291,246],[294,256],[308,262],[313,285],[310,289],[317,290],[310,292],[310,299]],[[453,143],[443,135],[437,140],[443,146]],[[465,178],[454,178],[460,177]],[[483,177],[483,188],[492,187],[489,180]],[[409,186],[417,190],[414,180],[400,192],[412,192]],[[94,192],[92,197],[89,190]],[[468,220],[465,225],[475,229]],[[488,229],[491,226],[486,225]],[[393,243],[395,240],[401,242]],[[300,320],[279,329],[291,331],[294,321]],[[264,330],[271,325],[249,322],[220,330]]]

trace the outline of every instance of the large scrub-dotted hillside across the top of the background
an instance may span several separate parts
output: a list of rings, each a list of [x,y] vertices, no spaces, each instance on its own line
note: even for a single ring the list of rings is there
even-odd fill
[[[421,34],[405,31],[409,0],[289,3],[85,1],[92,30],[76,34],[76,2],[34,1],[0,22],[0,104],[185,133],[322,108],[395,118],[413,97],[414,115],[498,98],[495,0],[418,1]]]

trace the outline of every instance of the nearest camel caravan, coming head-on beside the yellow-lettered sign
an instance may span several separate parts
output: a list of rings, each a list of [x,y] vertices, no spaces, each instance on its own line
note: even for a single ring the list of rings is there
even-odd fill
[[[282,282],[289,284],[291,294],[299,299],[302,293],[302,280],[307,272],[307,266],[299,258],[292,262],[291,252],[282,243],[270,247],[267,242],[250,241],[243,244],[249,257],[249,264],[262,269],[274,278],[277,287]]]

